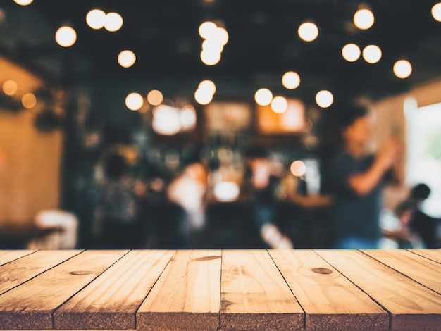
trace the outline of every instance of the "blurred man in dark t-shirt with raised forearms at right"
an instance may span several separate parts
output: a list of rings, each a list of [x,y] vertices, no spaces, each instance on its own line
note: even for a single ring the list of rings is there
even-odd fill
[[[364,107],[341,110],[341,148],[330,165],[337,248],[378,248],[383,187],[392,179],[392,166],[399,160],[401,145],[390,137],[376,154],[371,154],[367,147],[372,125]]]

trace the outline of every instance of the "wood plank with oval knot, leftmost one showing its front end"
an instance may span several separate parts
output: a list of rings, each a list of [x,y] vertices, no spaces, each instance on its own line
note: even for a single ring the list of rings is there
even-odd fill
[[[0,329],[51,329],[53,311],[128,251],[84,251],[0,296]]]

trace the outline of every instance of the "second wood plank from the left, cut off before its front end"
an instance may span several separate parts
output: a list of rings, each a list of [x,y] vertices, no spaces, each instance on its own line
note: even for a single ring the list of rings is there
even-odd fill
[[[77,250],[36,251],[0,266],[0,294],[80,254]]]

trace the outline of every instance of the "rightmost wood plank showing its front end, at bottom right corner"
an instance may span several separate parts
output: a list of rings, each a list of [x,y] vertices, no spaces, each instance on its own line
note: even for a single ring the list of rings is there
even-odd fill
[[[440,330],[440,294],[361,251],[317,253],[389,312],[390,330]]]

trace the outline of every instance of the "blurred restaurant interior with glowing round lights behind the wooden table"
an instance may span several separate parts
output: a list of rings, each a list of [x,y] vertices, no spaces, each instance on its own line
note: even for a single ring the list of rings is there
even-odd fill
[[[404,144],[385,229],[418,183],[441,218],[440,59],[437,0],[3,0],[0,249],[105,247],[101,215],[120,205],[139,223],[125,246],[283,246],[252,220],[253,158],[285,244],[330,247],[347,101],[373,116],[373,148]],[[112,154],[137,206],[100,205]],[[168,194],[195,161],[201,185]],[[204,229],[190,244],[178,200]]]

